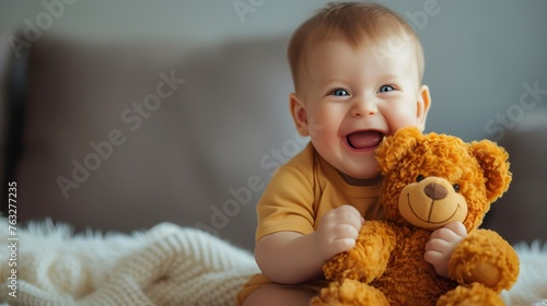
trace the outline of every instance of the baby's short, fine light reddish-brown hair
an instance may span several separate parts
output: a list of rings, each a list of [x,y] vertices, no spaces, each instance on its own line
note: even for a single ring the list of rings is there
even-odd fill
[[[379,46],[396,37],[416,47],[418,78],[424,69],[423,49],[414,28],[396,12],[375,3],[329,3],[292,34],[288,48],[294,89],[298,91],[303,60],[318,43],[342,37],[353,48]]]

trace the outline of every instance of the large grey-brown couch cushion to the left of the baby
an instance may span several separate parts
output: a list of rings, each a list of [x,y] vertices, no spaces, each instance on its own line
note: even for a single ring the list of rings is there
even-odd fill
[[[305,143],[287,107],[287,40],[190,45],[33,44],[21,219],[173,222],[253,247],[270,173]]]

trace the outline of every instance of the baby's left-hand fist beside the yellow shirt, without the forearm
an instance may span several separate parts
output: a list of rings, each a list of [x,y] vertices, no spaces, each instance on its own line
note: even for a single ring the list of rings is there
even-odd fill
[[[327,212],[315,231],[317,251],[324,261],[356,246],[364,219],[351,205],[342,205]]]

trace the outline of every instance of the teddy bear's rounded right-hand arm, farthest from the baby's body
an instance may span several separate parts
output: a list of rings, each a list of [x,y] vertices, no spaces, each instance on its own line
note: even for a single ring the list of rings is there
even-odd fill
[[[476,229],[449,260],[449,275],[458,283],[482,283],[497,292],[510,289],[519,275],[519,257],[498,233]]]

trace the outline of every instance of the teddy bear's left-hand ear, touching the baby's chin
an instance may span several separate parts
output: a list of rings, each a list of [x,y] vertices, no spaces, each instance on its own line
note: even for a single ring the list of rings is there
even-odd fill
[[[376,150],[376,161],[383,176],[389,174],[405,155],[412,152],[418,145],[418,140],[423,137],[416,127],[399,129],[392,137],[386,137]]]

